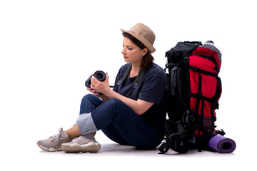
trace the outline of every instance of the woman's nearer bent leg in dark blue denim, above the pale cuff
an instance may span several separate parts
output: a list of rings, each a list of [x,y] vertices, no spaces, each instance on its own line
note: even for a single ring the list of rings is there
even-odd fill
[[[91,116],[97,130],[121,144],[152,148],[163,139],[164,133],[146,123],[121,100],[107,100],[92,111]]]

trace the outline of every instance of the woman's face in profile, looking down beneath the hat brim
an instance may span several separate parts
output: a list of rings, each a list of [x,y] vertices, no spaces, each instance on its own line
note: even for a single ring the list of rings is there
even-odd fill
[[[126,37],[124,37],[123,46],[124,48],[122,49],[121,53],[124,56],[124,61],[140,65],[143,55],[147,53],[147,48],[139,48],[135,43]]]

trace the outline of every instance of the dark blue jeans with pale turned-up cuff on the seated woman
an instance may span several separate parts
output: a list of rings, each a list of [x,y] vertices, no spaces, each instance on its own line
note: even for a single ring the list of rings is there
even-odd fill
[[[118,99],[103,102],[94,95],[85,95],[81,101],[77,124],[82,135],[102,132],[121,145],[148,149],[158,146],[163,133]]]

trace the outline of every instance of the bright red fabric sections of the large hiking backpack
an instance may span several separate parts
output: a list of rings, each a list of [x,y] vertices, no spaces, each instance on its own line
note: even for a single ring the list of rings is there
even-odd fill
[[[211,60],[208,60],[207,58],[203,58],[201,56],[194,56],[194,55],[203,55],[203,56],[213,56],[216,63],[218,63],[218,68],[221,68],[221,62],[218,60],[218,55],[215,51],[212,51],[208,48],[196,48],[195,51],[193,51],[192,56],[189,57],[189,66],[194,66],[198,69],[201,69],[203,71],[208,71],[211,73],[217,73],[214,69],[216,64],[213,63]],[[219,71],[218,71],[219,72]],[[190,75],[190,86],[191,86],[191,93],[198,93],[198,79],[199,74],[201,74],[201,95],[206,98],[213,98],[213,96],[216,93],[217,88],[217,78],[213,76],[208,76],[203,73],[198,73],[195,71],[189,70]],[[203,102],[203,128],[211,128],[211,103],[208,101]],[[191,110],[198,113],[198,115],[201,115],[201,107],[202,107],[202,100],[200,100],[198,111],[196,110],[196,98],[191,97],[191,103],[190,108]],[[215,111],[213,110],[213,113],[215,115]]]

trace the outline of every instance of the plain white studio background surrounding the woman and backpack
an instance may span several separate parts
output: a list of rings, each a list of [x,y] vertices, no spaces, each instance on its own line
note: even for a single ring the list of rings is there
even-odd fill
[[[0,1],[1,167],[256,170],[256,16],[256,2],[250,0]],[[106,148],[94,155],[46,153],[36,146],[73,125],[90,74],[108,72],[114,84],[124,64],[120,28],[129,30],[137,22],[155,32],[153,56],[163,68],[165,52],[178,41],[212,40],[221,50],[223,93],[216,125],[236,141],[232,154],[132,149],[126,155],[119,146],[108,152],[113,142],[100,131],[96,139]]]

